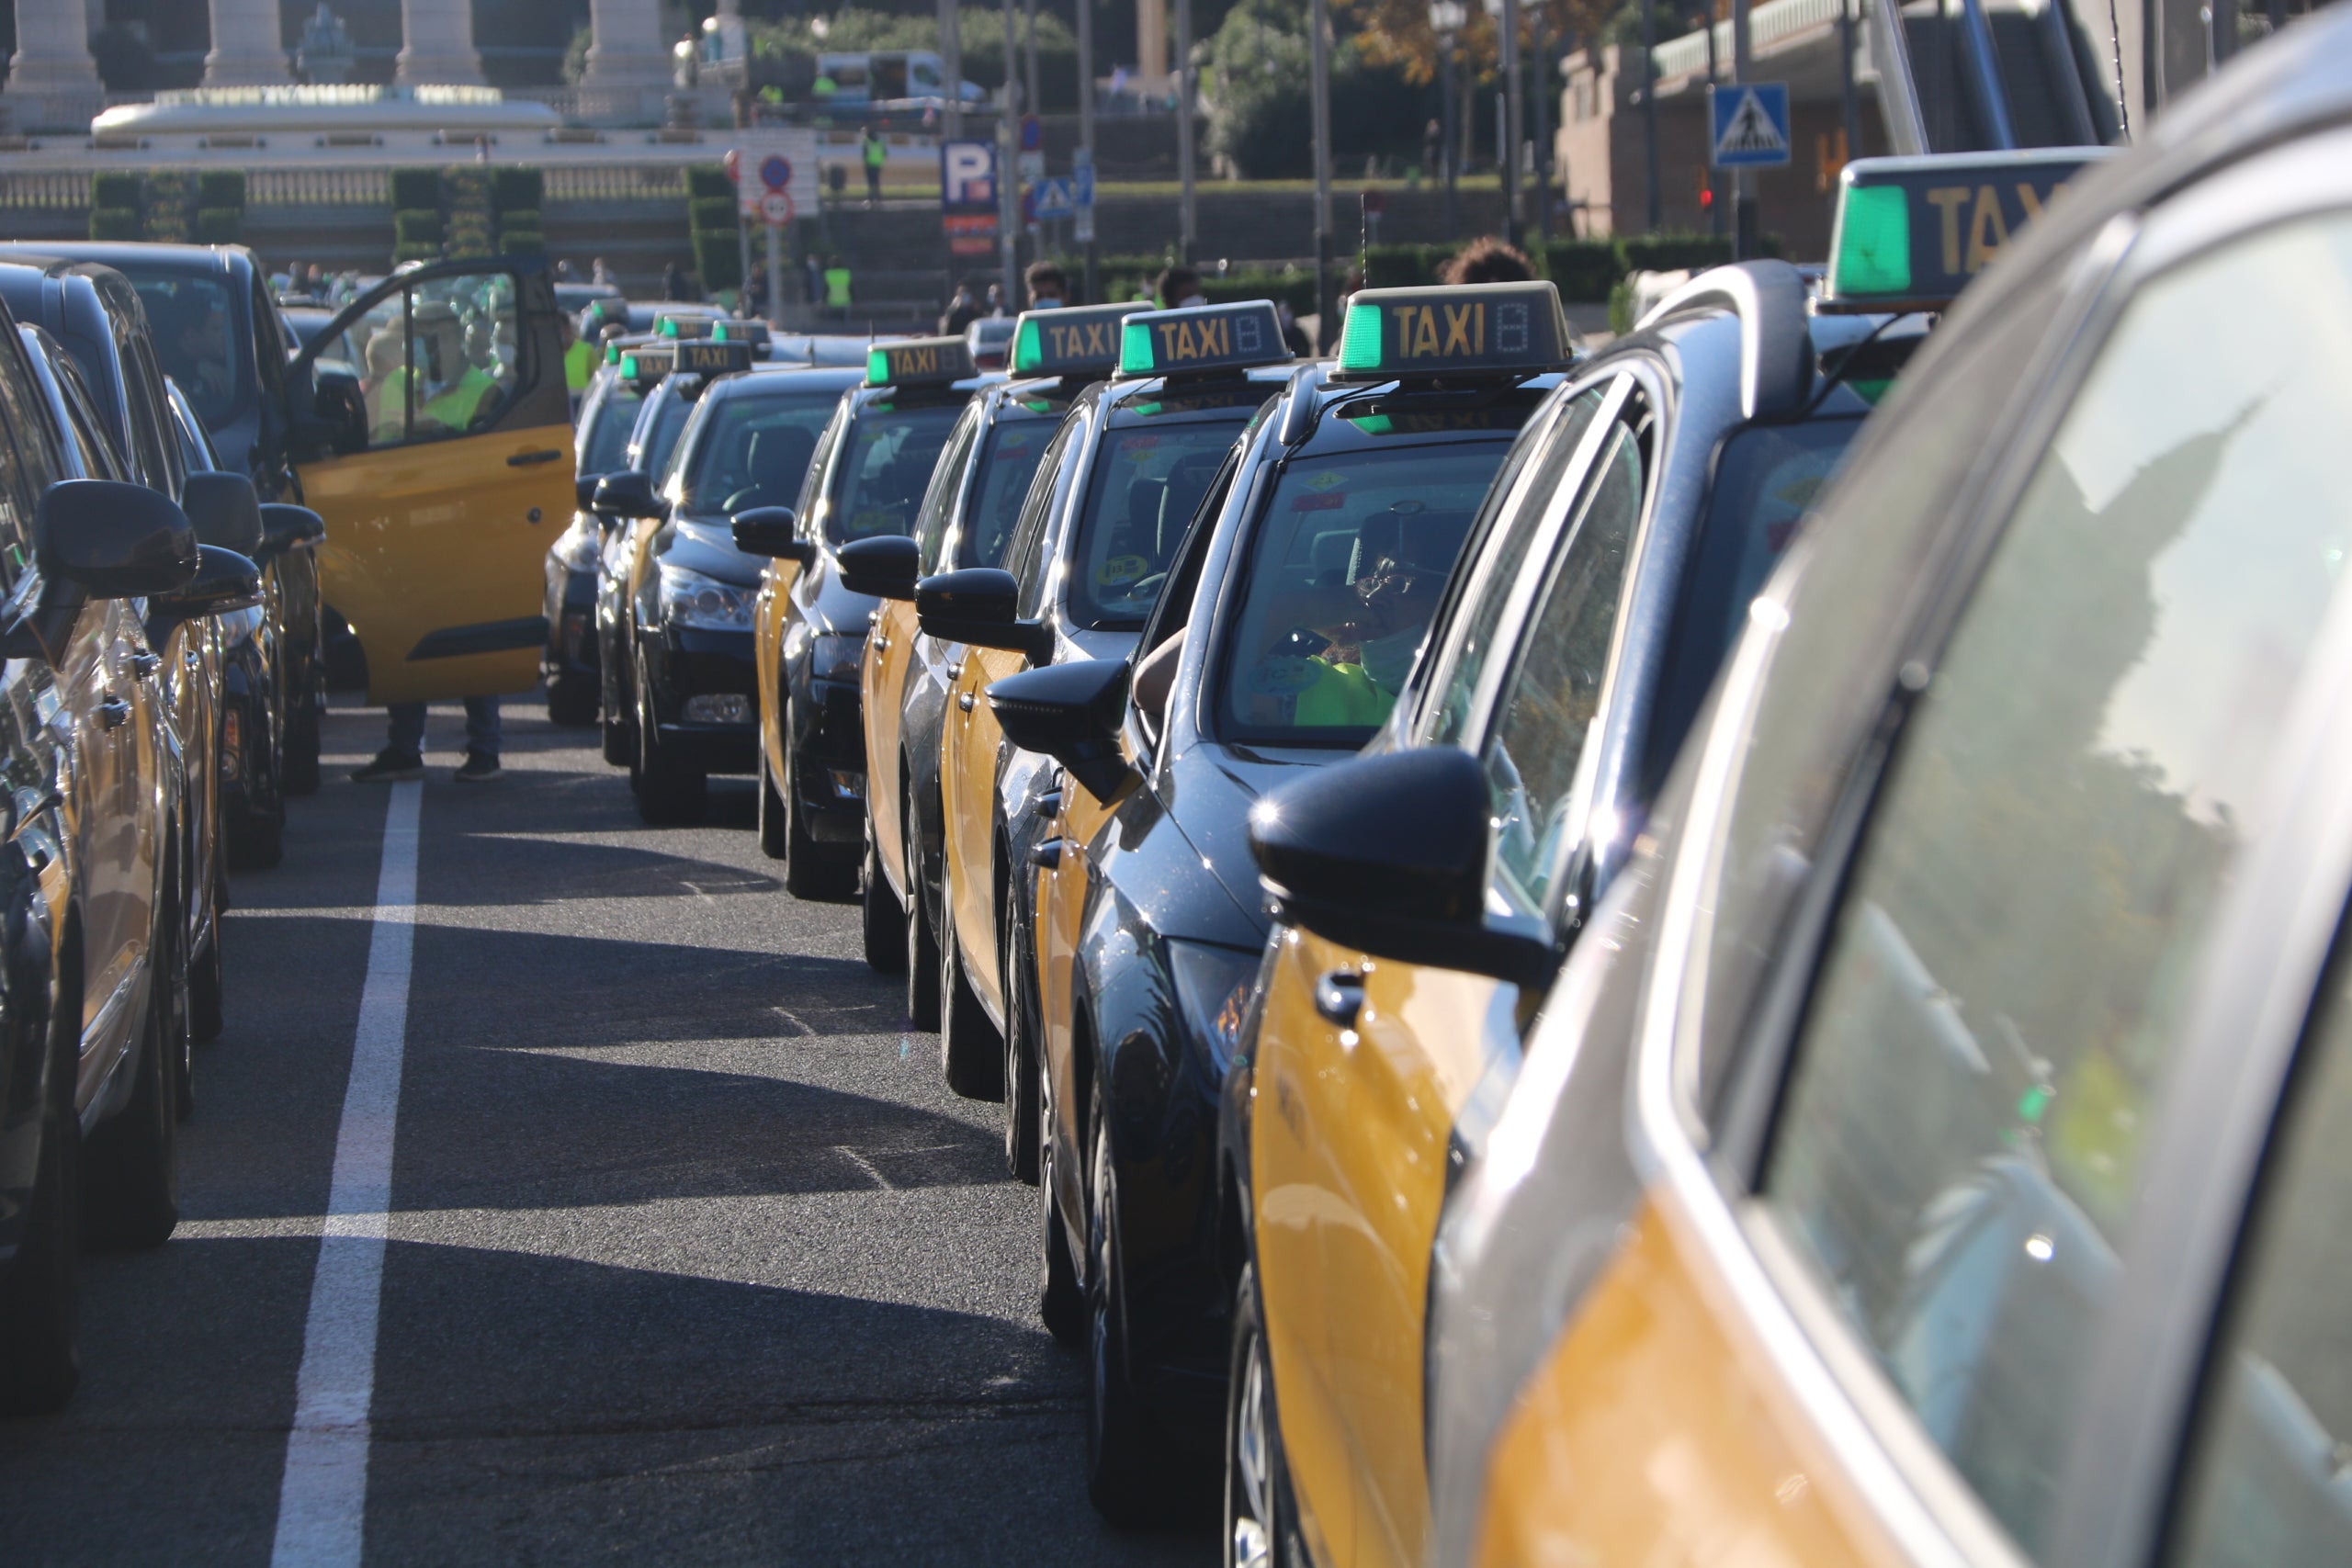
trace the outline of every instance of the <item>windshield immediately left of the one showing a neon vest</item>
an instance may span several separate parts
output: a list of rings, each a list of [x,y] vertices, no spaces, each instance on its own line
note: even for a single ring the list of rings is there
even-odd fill
[[[1256,404],[1230,418],[1103,433],[1070,569],[1077,625],[1098,632],[1143,625],[1192,510],[1251,414]]]

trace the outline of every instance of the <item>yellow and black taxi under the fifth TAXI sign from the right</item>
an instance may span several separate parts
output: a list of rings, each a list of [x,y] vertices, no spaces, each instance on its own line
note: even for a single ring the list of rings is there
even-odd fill
[[[877,343],[818,435],[795,515],[736,522],[736,543],[769,557],[753,609],[760,849],[783,860],[797,898],[856,893],[866,842],[858,670],[880,599],[849,581],[842,550],[915,531],[964,404],[1000,378],[971,369],[962,339]]]

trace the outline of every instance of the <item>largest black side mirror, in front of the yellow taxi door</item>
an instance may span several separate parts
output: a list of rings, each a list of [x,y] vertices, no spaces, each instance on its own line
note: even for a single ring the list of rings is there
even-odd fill
[[[1374,957],[1543,985],[1552,945],[1486,924],[1486,771],[1451,745],[1352,757],[1249,811],[1275,919]]]

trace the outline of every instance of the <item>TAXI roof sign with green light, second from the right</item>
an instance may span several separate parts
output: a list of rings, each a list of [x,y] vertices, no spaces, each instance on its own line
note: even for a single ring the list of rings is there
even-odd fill
[[[1569,317],[1548,282],[1359,289],[1331,378],[1536,376],[1571,360]]]

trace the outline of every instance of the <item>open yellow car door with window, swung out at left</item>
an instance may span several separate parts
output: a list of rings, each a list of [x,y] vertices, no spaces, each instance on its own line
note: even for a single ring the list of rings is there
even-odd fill
[[[336,435],[299,475],[327,520],[325,595],[367,654],[369,701],[522,691],[546,646],[541,562],[574,503],[546,268],[506,256],[393,277],[348,306],[299,369],[343,331],[367,339],[369,360],[388,336],[390,369],[320,388]]]

